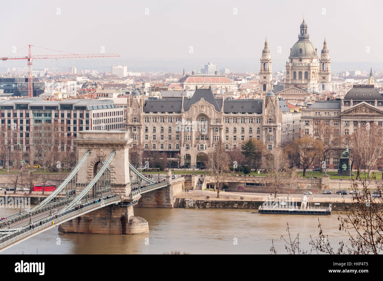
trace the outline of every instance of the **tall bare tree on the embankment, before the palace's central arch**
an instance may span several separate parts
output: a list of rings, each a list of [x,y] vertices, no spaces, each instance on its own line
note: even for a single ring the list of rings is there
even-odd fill
[[[215,150],[213,150],[212,159],[209,158],[208,160],[208,166],[217,189],[217,198],[219,198],[219,191],[223,189],[226,182],[226,173],[229,172],[229,161],[230,156],[224,144],[220,141],[218,145],[215,146]]]

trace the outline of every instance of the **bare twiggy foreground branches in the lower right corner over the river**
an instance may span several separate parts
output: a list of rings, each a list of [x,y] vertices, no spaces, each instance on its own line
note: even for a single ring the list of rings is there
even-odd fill
[[[354,191],[352,198],[352,207],[344,203],[344,210],[338,215],[339,230],[349,235],[349,242],[340,241],[339,247],[334,248],[324,234],[321,223],[318,219],[319,235],[315,240],[311,237],[311,250],[317,253],[326,253],[330,255],[354,254],[368,255],[380,254],[383,251],[383,187],[378,184],[375,178],[375,184],[378,187],[375,196],[370,193],[370,184],[374,181],[364,179],[352,180],[351,189]],[[374,184],[374,187],[375,187]],[[299,235],[299,233],[298,233]],[[297,237],[299,237],[297,235]],[[289,232],[290,237],[290,232]],[[284,239],[283,239],[284,240]],[[284,240],[285,248],[290,253],[294,253],[297,248],[296,243]],[[293,240],[295,242],[295,240]],[[275,251],[274,245],[270,249]],[[311,252],[310,252],[311,253]]]

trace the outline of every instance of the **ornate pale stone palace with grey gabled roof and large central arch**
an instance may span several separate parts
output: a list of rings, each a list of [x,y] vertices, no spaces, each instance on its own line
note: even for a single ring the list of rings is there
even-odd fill
[[[173,164],[199,168],[219,141],[234,150],[256,138],[271,152],[300,136],[300,114],[271,90],[260,100],[216,99],[210,89],[196,89],[191,98],[182,99],[145,99],[134,91],[128,98],[126,130],[133,145],[166,152]]]

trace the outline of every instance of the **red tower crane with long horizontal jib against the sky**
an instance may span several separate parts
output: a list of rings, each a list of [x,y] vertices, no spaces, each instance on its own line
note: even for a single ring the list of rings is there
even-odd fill
[[[73,59],[73,58],[100,58],[100,57],[119,57],[119,54],[58,54],[58,55],[31,55],[31,46],[28,45],[28,56],[27,57],[0,57],[2,61],[8,59],[28,59],[28,97],[33,97],[33,77],[32,77],[32,61],[34,59]],[[41,48],[41,47],[40,47]],[[24,49],[24,48],[23,48]],[[48,49],[48,48],[44,48]],[[55,51],[55,50],[54,50]]]

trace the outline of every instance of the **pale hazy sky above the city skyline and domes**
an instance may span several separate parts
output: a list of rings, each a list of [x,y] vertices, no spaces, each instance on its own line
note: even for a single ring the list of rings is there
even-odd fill
[[[304,14],[318,54],[326,35],[333,62],[377,63],[383,62],[382,10],[383,2],[371,0],[3,1],[0,56],[33,44],[72,53],[100,53],[104,46],[121,59],[259,61],[267,35],[272,59],[286,61]]]

